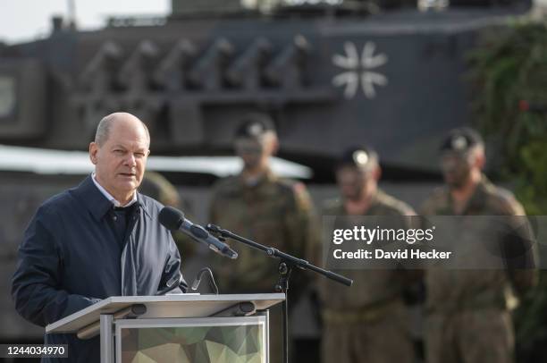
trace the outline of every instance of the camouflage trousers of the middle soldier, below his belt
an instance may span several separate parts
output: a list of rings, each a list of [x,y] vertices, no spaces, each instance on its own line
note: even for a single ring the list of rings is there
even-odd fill
[[[324,321],[323,363],[412,363],[414,347],[402,307],[373,321]]]

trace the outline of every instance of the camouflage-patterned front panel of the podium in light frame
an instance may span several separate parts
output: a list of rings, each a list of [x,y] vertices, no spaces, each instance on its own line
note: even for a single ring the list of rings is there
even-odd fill
[[[267,318],[122,319],[116,362],[267,363]]]

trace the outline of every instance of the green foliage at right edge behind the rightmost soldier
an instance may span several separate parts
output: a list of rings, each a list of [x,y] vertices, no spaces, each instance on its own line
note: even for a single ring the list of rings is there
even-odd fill
[[[518,18],[509,27],[485,30],[476,49],[469,56],[475,126],[501,153],[505,163],[497,172],[515,185],[526,213],[547,215],[546,19]],[[547,272],[515,312],[515,324],[518,359],[542,359]]]

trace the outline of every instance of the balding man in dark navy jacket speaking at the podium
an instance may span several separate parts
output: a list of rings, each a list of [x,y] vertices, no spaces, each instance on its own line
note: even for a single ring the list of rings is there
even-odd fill
[[[110,296],[186,291],[179,251],[157,220],[163,206],[137,192],[149,145],[132,114],[99,122],[89,144],[95,172],[48,199],[24,233],[12,286],[22,317],[46,326]],[[100,360],[98,337],[46,334],[45,342],[69,344],[69,358],[59,361]]]

